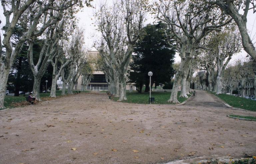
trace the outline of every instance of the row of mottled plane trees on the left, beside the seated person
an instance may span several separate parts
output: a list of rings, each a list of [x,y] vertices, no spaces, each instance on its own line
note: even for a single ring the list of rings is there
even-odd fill
[[[27,53],[27,63],[33,73],[34,96],[40,100],[40,83],[49,64],[53,68],[51,97],[55,97],[56,83],[60,76],[64,85],[70,84],[69,92],[72,93],[72,87],[86,64],[87,53],[83,31],[76,30],[74,14],[84,3],[90,6],[90,1],[1,1],[6,19],[0,44],[0,109],[4,108],[11,67],[21,52]],[[15,33],[17,28],[20,29],[19,35]]]

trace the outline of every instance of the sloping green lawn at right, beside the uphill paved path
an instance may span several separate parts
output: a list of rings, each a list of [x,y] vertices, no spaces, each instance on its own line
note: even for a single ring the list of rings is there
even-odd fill
[[[215,94],[213,92],[211,93]],[[221,100],[225,101],[228,105],[232,107],[256,112],[256,101],[254,100],[245,99],[238,96],[226,95],[226,94],[219,94],[216,96],[219,97]]]

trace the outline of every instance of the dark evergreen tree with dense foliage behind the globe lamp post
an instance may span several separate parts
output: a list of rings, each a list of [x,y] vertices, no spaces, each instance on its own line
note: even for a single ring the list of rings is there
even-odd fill
[[[145,92],[149,91],[148,72],[152,71],[152,84],[155,87],[160,83],[170,82],[174,75],[172,64],[175,50],[166,42],[164,33],[165,24],[147,25],[144,35],[136,43],[132,62],[130,64],[130,82],[139,87],[139,93],[145,84]]]

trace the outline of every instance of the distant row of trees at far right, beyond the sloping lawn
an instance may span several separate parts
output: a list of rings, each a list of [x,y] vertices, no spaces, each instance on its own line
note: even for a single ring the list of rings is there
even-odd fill
[[[221,74],[221,91],[219,93],[233,93],[233,89],[235,89],[236,94],[244,97],[245,91],[250,91],[251,89],[256,88],[256,69],[255,63],[253,61],[241,62],[241,60],[237,60],[233,64],[229,64],[227,68]],[[213,78],[217,79],[218,72],[217,69],[212,71]],[[208,91],[217,91],[217,87],[211,88],[209,73],[204,69],[197,72],[195,78],[193,78],[192,82],[194,82],[198,89],[208,90]],[[215,86],[216,82],[213,82],[213,86]],[[199,87],[198,87],[199,86]],[[236,86],[236,87],[235,87]],[[255,95],[254,90],[254,95]]]

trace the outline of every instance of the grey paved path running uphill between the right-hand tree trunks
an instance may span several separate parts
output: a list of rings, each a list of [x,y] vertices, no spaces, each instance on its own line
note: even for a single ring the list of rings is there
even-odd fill
[[[209,94],[206,91],[200,90],[196,90],[195,96],[192,96],[190,99],[188,99],[184,105],[228,108],[216,96]]]

